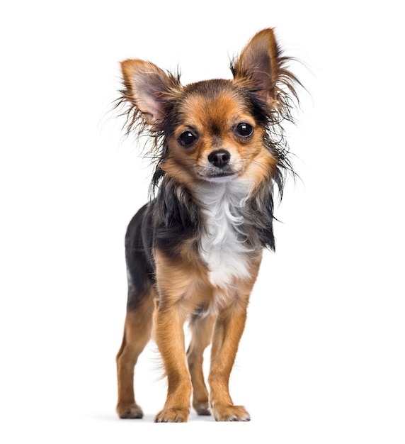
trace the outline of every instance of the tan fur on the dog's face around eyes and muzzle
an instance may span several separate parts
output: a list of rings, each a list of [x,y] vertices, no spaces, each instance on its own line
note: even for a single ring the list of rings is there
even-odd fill
[[[168,159],[161,165],[171,177],[184,184],[199,184],[201,174],[207,167],[207,156],[216,148],[228,150],[233,159],[234,170],[239,177],[251,179],[256,187],[268,177],[276,165],[274,157],[263,149],[263,131],[256,126],[253,118],[244,110],[243,104],[228,91],[209,104],[200,96],[194,96],[182,104],[182,111],[187,116],[187,126],[180,124],[173,135],[172,150]],[[253,138],[246,143],[236,138],[232,127],[237,121],[244,121],[253,126]],[[215,124],[221,132],[212,137],[210,127]],[[193,150],[185,152],[178,146],[176,139],[188,127],[196,128],[200,137]]]

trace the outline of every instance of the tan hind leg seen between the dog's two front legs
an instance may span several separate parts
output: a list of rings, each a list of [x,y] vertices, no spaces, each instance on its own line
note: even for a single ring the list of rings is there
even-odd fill
[[[212,338],[216,316],[193,316],[190,321],[192,337],[187,350],[188,371],[193,384],[193,407],[199,415],[210,415],[208,391],[203,375],[203,353]]]

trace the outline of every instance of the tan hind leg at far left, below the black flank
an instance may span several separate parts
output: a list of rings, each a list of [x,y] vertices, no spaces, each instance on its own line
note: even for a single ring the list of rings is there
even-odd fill
[[[120,418],[142,418],[142,409],[135,402],[134,367],[152,333],[154,290],[149,290],[137,304],[128,306],[124,338],[117,355],[118,404]]]

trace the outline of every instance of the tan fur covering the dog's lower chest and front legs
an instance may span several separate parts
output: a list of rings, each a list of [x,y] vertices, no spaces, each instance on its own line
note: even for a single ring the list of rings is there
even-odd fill
[[[210,343],[212,353],[210,377],[210,409],[217,421],[240,421],[249,414],[240,406],[233,408],[229,395],[229,375],[234,365],[239,340],[244,331],[249,294],[256,280],[261,255],[251,264],[249,279],[236,279],[229,289],[212,287],[203,265],[198,260],[174,262],[156,252],[157,287],[161,295],[154,313],[154,339],[161,352],[168,377],[168,397],[157,421],[186,421],[193,406],[200,414],[208,410],[207,389],[203,379],[203,351]],[[217,295],[226,295],[218,304]],[[217,316],[213,313],[213,308]],[[193,338],[188,348],[186,366],[183,323],[190,313],[205,309],[211,313],[192,323]],[[190,379],[191,375],[191,379]]]

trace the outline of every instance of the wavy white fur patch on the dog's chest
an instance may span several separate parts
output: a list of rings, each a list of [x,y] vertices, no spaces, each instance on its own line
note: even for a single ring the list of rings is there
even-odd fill
[[[227,287],[235,277],[249,277],[249,248],[241,232],[241,208],[249,189],[249,182],[236,179],[203,184],[197,192],[204,218],[200,255],[210,270],[210,282],[217,287]]]

